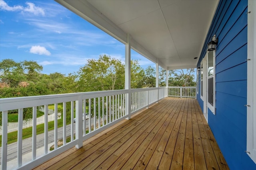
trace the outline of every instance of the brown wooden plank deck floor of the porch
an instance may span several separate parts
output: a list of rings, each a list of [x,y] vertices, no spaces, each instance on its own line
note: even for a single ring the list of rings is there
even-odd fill
[[[166,98],[35,169],[229,169],[196,99]]]

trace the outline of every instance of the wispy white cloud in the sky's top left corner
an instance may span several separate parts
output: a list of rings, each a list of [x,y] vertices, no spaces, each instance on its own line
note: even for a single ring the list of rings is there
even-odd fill
[[[6,10],[6,11],[21,11],[21,12],[29,12],[32,13],[36,16],[42,15],[44,16],[44,9],[35,6],[35,4],[31,2],[26,2],[27,6],[9,6],[4,0],[0,0],[0,9],[1,10]]]

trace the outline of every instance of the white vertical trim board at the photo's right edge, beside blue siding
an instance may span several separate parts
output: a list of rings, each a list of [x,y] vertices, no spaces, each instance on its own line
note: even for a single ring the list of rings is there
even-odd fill
[[[246,153],[256,163],[256,2],[248,0]],[[254,86],[253,86],[254,84]]]

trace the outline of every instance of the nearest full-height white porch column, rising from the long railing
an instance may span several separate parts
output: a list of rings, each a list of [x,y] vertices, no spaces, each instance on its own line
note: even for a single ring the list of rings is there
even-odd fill
[[[127,43],[125,44],[125,89],[128,90],[126,94],[126,114],[127,119],[131,118],[131,45],[130,35],[127,34]]]

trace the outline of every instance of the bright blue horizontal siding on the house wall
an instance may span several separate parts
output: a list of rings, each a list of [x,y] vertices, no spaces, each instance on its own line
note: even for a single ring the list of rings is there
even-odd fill
[[[230,169],[252,170],[256,164],[246,150],[247,0],[220,0],[197,66],[207,43],[216,34],[216,115],[208,109],[208,123]],[[199,75],[200,78],[200,75]],[[201,84],[199,83],[199,89]],[[197,100],[203,109],[200,90]]]

